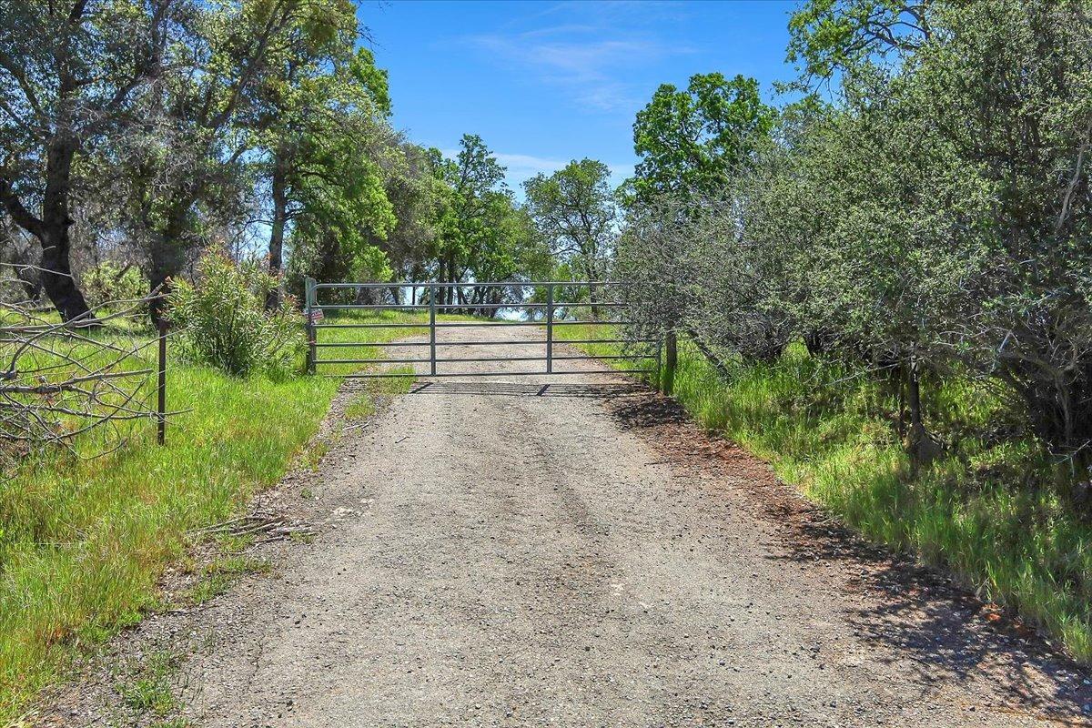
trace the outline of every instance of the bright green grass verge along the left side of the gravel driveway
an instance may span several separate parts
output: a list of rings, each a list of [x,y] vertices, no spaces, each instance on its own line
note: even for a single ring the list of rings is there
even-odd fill
[[[332,329],[322,339],[379,342],[418,331]],[[327,351],[334,350],[322,356],[378,349]],[[275,482],[316,433],[340,381],[235,379],[171,361],[168,407],[185,411],[169,421],[166,446],[155,445],[151,421],[139,421],[112,454],[81,457],[104,450],[90,435],[76,454],[52,452],[0,480],[0,725],[59,676],[73,651],[156,607],[157,580],[185,553],[187,532],[230,517]]]

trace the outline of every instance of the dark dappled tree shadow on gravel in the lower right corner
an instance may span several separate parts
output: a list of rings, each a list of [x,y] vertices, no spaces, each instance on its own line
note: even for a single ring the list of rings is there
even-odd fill
[[[841,563],[854,574],[854,592],[879,595],[846,609],[846,620],[874,654],[910,664],[922,682],[969,682],[983,677],[1005,685],[1019,701],[1008,708],[1045,713],[1061,725],[1092,726],[1088,671],[1051,648],[1012,614],[985,604],[907,554],[893,554],[851,529],[824,521],[806,504],[771,503],[768,513],[786,524],[784,554],[800,564]],[[1021,709],[1028,708],[1028,709]]]

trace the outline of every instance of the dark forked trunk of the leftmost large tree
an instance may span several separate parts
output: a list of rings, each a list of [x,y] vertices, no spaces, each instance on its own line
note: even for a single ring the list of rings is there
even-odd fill
[[[41,244],[41,287],[61,314],[62,321],[80,319],[88,324],[94,317],[72,277],[69,260],[69,194],[72,184],[72,158],[75,141],[55,139],[46,153],[46,189],[41,196],[41,217],[35,217],[23,206],[11,189],[11,181],[0,178],[0,201],[15,223],[38,239]]]

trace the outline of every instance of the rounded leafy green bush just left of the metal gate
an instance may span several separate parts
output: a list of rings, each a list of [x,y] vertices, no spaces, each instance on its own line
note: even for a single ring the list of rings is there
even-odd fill
[[[277,284],[259,260],[206,254],[197,282],[175,282],[168,298],[185,356],[237,377],[290,370],[305,346],[302,318],[285,301],[266,310]]]

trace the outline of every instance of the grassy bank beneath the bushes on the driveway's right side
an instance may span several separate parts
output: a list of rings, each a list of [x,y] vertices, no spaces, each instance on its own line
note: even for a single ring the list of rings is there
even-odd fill
[[[580,327],[562,336],[584,338]],[[600,353],[609,349],[596,349]],[[803,347],[721,377],[680,343],[675,397],[707,429],[768,460],[778,476],[868,538],[954,574],[1092,661],[1092,526],[1058,498],[1067,477],[1005,409],[969,382],[926,386],[927,423],[950,455],[912,474],[886,389]]]

